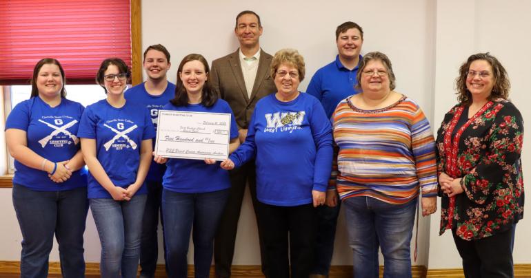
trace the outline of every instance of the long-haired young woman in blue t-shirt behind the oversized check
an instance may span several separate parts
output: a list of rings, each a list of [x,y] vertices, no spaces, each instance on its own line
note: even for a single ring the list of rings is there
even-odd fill
[[[229,152],[237,149],[238,127],[228,103],[218,98],[208,83],[208,63],[200,54],[183,58],[177,70],[175,98],[163,110],[230,114]],[[190,231],[194,233],[195,277],[208,277],[213,241],[228,198],[228,172],[216,160],[161,158],[166,163],[162,185],[162,213],[169,277],[187,277],[186,254]]]

